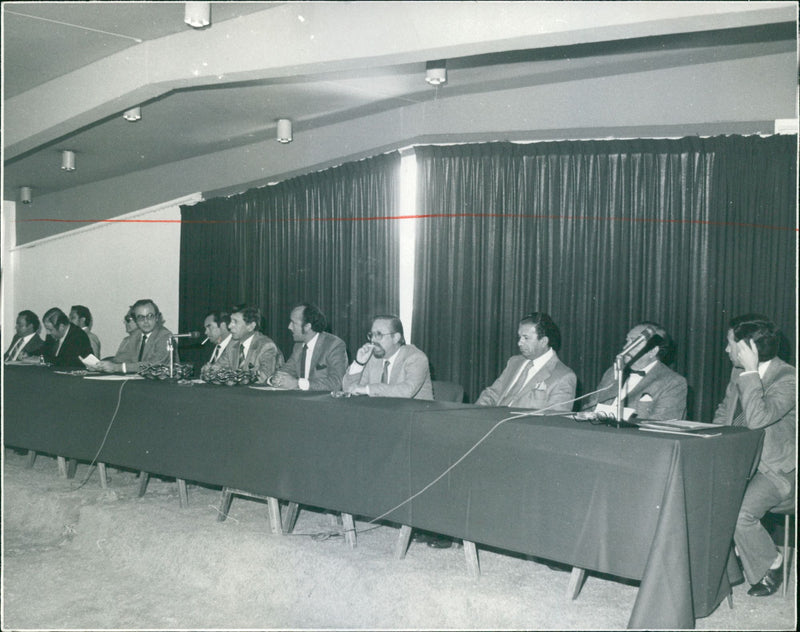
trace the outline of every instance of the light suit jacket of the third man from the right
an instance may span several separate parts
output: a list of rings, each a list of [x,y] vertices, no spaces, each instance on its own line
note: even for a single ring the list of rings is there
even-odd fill
[[[524,356],[511,356],[500,377],[483,390],[475,403],[479,406],[497,406],[506,390],[513,386],[526,361]],[[510,405],[536,410],[547,408],[553,413],[569,412],[572,410],[577,384],[575,373],[553,352],[553,357],[528,380]]]

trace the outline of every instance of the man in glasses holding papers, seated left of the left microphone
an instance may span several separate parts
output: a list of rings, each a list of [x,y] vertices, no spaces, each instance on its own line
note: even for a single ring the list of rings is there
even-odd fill
[[[137,373],[152,364],[169,363],[169,338],[158,306],[149,298],[132,306],[138,331],[125,338],[112,360],[101,360],[95,367],[106,373]]]

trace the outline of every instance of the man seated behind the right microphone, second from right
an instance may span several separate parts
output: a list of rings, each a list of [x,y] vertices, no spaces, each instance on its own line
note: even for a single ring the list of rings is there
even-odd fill
[[[639,323],[628,332],[625,346],[646,330],[652,332],[650,338],[623,370],[623,406],[632,408],[639,419],[683,419],[688,387],[686,378],[664,364],[672,352],[672,340],[666,330],[658,323]],[[613,366],[603,374],[597,390],[600,392],[587,399],[584,410],[594,409],[597,404],[617,406],[617,375]]]

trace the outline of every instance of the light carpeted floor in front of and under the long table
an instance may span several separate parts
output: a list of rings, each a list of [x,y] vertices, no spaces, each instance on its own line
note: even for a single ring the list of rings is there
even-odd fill
[[[267,507],[236,498],[217,521],[219,491],[154,478],[137,497],[133,472],[78,467],[59,478],[55,460],[5,451],[3,630],[17,629],[624,629],[635,582],[590,575],[576,601],[569,573],[480,550],[481,577],[461,548],[413,543],[393,558],[398,529],[357,522],[358,547],[331,532],[329,514],[300,512],[295,533],[270,531]],[[323,535],[319,535],[323,534]],[[314,537],[312,537],[314,536]],[[794,573],[793,573],[794,575]],[[699,629],[794,630],[789,595],[734,589]]]

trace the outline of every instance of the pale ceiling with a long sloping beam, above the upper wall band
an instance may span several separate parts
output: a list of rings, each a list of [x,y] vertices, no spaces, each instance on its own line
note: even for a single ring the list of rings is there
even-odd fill
[[[262,142],[281,117],[312,133],[409,103],[622,72],[634,58],[793,50],[796,34],[791,2],[217,2],[200,31],[180,2],[2,9],[12,200],[22,185],[43,195]],[[448,82],[432,88],[425,62],[437,58]],[[138,104],[142,120],[123,120]],[[64,149],[74,172],[60,169]]]

